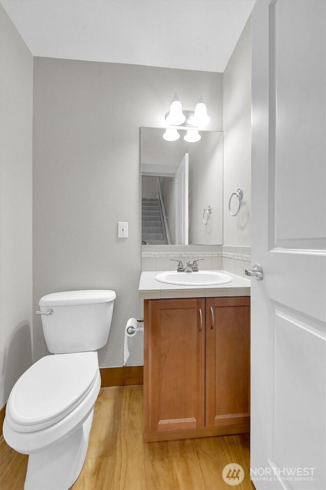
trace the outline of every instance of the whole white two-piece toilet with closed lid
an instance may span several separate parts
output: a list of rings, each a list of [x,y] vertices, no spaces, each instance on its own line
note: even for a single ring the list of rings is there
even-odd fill
[[[110,332],[116,293],[55,292],[40,299],[47,348],[16,382],[6,407],[4,437],[29,454],[25,490],[67,490],[86,456],[100,389],[97,349]]]

